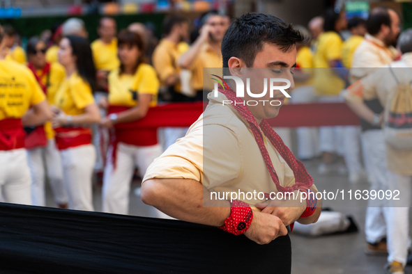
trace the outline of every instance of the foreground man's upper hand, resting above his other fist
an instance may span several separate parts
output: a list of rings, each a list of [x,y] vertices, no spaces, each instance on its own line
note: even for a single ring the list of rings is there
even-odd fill
[[[299,191],[294,191],[296,197],[299,196]],[[300,218],[300,216],[306,210],[307,202],[300,199],[294,200],[267,200],[266,202],[259,202],[256,204],[258,209],[261,209],[261,213],[268,213],[277,216],[282,220],[284,225],[290,225]]]

